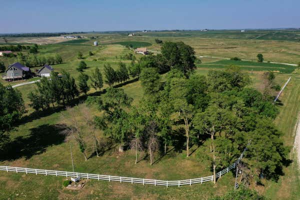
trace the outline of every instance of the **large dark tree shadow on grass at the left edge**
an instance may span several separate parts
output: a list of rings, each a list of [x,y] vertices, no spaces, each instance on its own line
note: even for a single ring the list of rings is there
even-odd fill
[[[61,132],[66,128],[65,125],[42,124],[30,128],[31,133],[25,136],[18,136],[11,140],[0,160],[13,160],[20,157],[26,159],[33,155],[46,151],[51,145],[57,145],[64,141],[65,135]]]

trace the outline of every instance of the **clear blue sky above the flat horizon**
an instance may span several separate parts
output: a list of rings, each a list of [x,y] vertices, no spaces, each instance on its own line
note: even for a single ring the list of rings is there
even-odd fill
[[[0,0],[0,33],[300,27],[300,0]]]

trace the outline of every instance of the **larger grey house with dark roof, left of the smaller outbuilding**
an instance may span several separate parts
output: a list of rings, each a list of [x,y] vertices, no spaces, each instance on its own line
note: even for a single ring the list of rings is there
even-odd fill
[[[24,79],[31,76],[30,68],[22,65],[19,62],[8,65],[5,73],[6,75],[3,75],[2,79],[7,81]]]

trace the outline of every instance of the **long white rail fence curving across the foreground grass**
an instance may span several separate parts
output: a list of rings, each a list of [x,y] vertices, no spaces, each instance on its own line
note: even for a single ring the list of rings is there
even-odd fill
[[[244,151],[246,148],[244,149]],[[221,177],[223,174],[228,173],[231,169],[235,168],[239,163],[239,160],[242,158],[244,151],[238,157],[238,159],[227,168],[216,173],[216,178]],[[24,168],[24,167],[14,167],[14,166],[0,166],[0,170],[3,171],[15,171],[45,175],[56,175],[56,176],[65,176],[65,177],[81,177],[87,179],[97,179],[97,180],[108,180],[108,181],[118,181],[118,182],[131,182],[131,183],[140,183],[140,184],[153,184],[153,185],[164,185],[168,186],[180,186],[180,185],[191,185],[195,183],[203,183],[207,181],[213,181],[213,175],[206,177],[199,177],[186,180],[155,180],[155,179],[145,179],[145,178],[133,178],[133,177],[122,177],[122,176],[113,176],[113,175],[100,175],[93,173],[79,173],[79,172],[70,172],[70,171],[56,171],[48,169],[33,169],[33,168]]]

